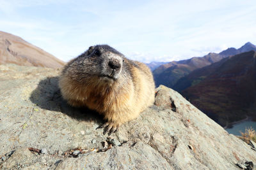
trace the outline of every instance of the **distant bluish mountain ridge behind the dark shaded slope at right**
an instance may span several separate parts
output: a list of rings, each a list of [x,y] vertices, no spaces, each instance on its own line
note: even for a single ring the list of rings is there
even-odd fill
[[[239,49],[228,48],[220,53],[208,53],[204,57],[193,57],[188,60],[173,61],[163,64],[153,71],[156,86],[163,84],[173,88],[180,78],[186,76],[195,69],[209,66],[225,57],[236,55],[241,52],[248,52],[250,50],[256,50],[256,46],[248,42]]]

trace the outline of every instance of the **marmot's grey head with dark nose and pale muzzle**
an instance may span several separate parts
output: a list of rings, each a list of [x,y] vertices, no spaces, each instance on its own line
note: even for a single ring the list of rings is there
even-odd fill
[[[84,71],[102,80],[117,80],[123,69],[124,55],[108,45],[90,46],[78,58],[83,59]]]

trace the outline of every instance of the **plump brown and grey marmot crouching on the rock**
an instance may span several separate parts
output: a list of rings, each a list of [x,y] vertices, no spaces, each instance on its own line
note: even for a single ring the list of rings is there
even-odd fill
[[[104,116],[104,134],[115,132],[154,103],[150,69],[108,45],[90,46],[70,60],[61,72],[59,85],[68,104],[86,106]]]

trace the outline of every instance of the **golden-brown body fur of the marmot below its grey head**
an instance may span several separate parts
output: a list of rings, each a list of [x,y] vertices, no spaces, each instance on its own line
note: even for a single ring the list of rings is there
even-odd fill
[[[98,111],[116,127],[138,117],[141,111],[154,103],[153,76],[141,62],[124,58],[124,64],[126,67],[123,69],[129,68],[131,75],[121,72],[120,80],[109,83],[99,81],[98,76],[87,77],[84,83],[76,81],[77,78],[74,80],[74,74],[70,73],[76,73],[77,67],[67,64],[59,83],[63,98],[72,106],[87,106]]]

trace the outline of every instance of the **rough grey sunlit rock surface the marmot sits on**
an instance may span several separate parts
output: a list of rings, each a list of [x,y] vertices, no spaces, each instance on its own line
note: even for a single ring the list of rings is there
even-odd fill
[[[0,157],[6,157],[0,169],[239,169],[237,164],[256,164],[252,146],[164,86],[156,89],[157,106],[115,134],[103,135],[97,128],[102,117],[61,99],[58,73],[0,65]],[[109,143],[110,138],[120,145]],[[49,154],[28,148],[46,148]],[[81,152],[77,157],[75,150]]]

